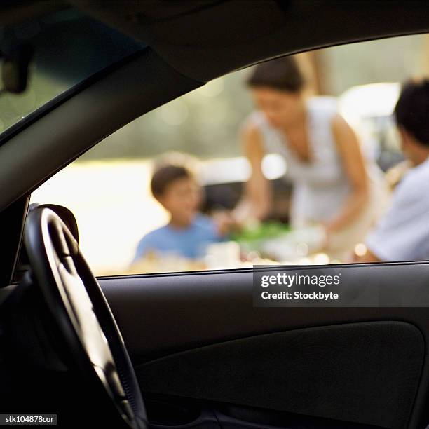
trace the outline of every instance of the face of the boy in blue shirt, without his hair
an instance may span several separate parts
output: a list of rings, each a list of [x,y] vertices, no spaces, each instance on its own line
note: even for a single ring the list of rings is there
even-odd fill
[[[200,207],[201,189],[194,179],[183,177],[168,184],[158,201],[170,212],[173,222],[188,225]]]

